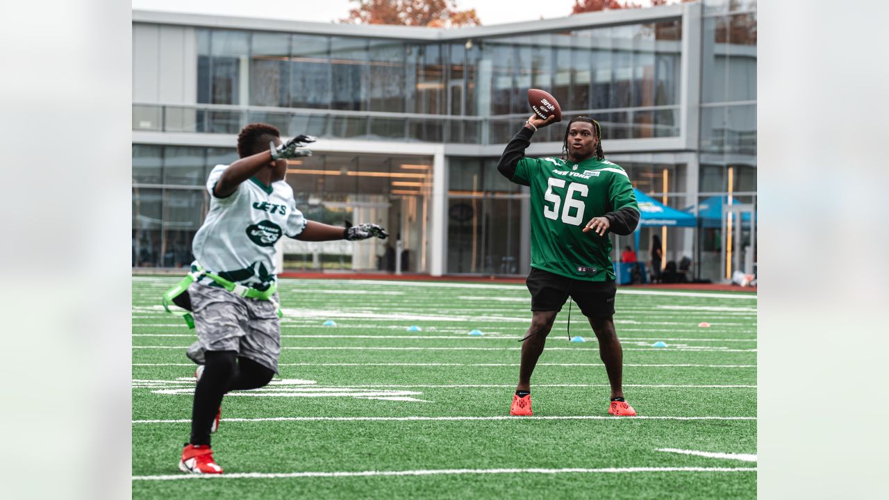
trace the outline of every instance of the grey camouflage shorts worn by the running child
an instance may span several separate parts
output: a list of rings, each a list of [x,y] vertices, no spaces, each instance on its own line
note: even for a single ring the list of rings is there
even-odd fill
[[[236,351],[277,373],[281,326],[275,302],[245,299],[223,288],[192,283],[188,287],[197,342],[186,355],[204,364],[205,351]]]

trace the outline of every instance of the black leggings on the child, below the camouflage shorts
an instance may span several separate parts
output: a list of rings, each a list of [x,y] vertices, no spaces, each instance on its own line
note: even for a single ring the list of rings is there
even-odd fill
[[[207,351],[204,358],[204,375],[197,381],[191,407],[193,445],[210,444],[210,428],[226,392],[259,389],[275,376],[271,369],[238,357],[235,351]]]

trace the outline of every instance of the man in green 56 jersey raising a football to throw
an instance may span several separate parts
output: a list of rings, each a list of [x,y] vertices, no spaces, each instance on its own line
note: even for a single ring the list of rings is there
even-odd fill
[[[570,295],[589,319],[599,356],[611,383],[612,415],[636,415],[624,400],[623,351],[614,333],[614,271],[608,232],[628,235],[639,222],[639,206],[629,176],[605,159],[599,124],[573,118],[565,130],[562,158],[526,158],[531,136],[555,117],[528,118],[503,151],[497,169],[510,181],[531,188],[531,327],[522,343],[522,361],[510,415],[532,415],[531,374],[546,337]]]

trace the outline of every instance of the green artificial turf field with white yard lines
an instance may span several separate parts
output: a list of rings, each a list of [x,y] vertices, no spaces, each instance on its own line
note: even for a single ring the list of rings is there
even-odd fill
[[[568,342],[566,304],[534,415],[510,417],[525,286],[282,279],[280,374],[226,396],[212,440],[225,474],[200,477],[177,468],[195,336],[159,299],[178,279],[132,282],[133,498],[756,497],[753,294],[619,290],[639,417],[607,414],[595,336],[575,304],[571,335],[589,342]]]

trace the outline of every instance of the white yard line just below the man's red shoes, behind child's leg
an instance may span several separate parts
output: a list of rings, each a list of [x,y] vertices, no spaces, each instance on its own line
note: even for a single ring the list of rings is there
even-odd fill
[[[222,422],[421,422],[466,420],[757,420],[756,416],[611,416],[611,415],[547,415],[547,416],[267,416],[259,418],[223,418]],[[132,423],[191,423],[191,419],[133,420]]]

